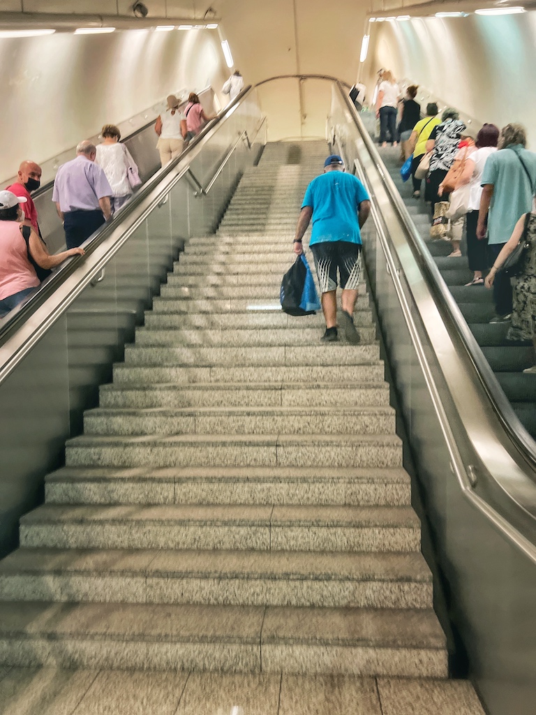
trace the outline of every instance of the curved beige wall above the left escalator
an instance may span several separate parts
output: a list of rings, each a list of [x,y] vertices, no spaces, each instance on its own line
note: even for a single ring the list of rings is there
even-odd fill
[[[170,92],[219,88],[228,76],[210,30],[0,39],[0,66],[0,177],[16,174],[22,159],[51,159],[106,122],[157,113]]]

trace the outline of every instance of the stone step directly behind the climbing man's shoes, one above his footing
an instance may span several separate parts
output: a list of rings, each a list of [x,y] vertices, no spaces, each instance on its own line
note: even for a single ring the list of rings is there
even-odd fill
[[[160,317],[160,316],[159,316]],[[162,316],[167,317],[167,316]],[[180,325],[180,315],[173,316]],[[169,317],[167,317],[169,321]],[[357,322],[356,322],[357,327]],[[368,325],[358,327],[359,336],[364,344],[374,342],[376,327]],[[139,327],[136,330],[136,345],[227,345],[229,347],[247,347],[252,345],[311,345],[322,337],[322,330],[317,327],[271,328],[270,330],[186,330],[182,327]],[[343,336],[339,336],[343,340]]]

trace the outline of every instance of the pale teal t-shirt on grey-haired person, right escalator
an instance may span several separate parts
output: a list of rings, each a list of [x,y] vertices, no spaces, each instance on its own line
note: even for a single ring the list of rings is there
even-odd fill
[[[520,158],[530,174],[530,182]],[[522,215],[532,210],[536,154],[527,152],[521,144],[510,144],[506,149],[493,152],[485,163],[480,183],[494,187],[487,218],[488,242],[490,245],[506,243]]]

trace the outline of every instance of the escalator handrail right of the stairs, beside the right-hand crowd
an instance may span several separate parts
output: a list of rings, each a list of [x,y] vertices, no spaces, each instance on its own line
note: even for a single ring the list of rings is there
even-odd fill
[[[369,154],[371,154],[374,162],[377,164],[379,174],[381,175],[384,186],[387,189],[387,194],[389,194],[389,199],[395,209],[397,209],[402,222],[404,222],[407,232],[411,236],[412,247],[416,250],[422,267],[425,268],[430,288],[435,293],[435,297],[437,298],[438,307],[445,310],[450,322],[454,324],[457,335],[460,337],[467,355],[473,365],[475,365],[475,369],[477,370],[477,373],[479,373],[480,379],[482,380],[482,385],[490,398],[490,402],[495,408],[497,416],[500,418],[503,428],[510,437],[510,440],[517,445],[517,448],[520,449],[524,458],[530,463],[531,468],[536,468],[535,440],[532,439],[531,435],[522,425],[519,418],[517,418],[510,401],[506,397],[500,384],[497,382],[497,378],[495,378],[495,374],[490,368],[490,363],[487,362],[482,350],[480,350],[480,345],[478,345],[475,336],[472,334],[469,326],[467,325],[467,321],[463,317],[460,307],[457,305],[452,293],[445,284],[445,280],[443,280],[440,270],[433,260],[425,240],[423,240],[420,233],[415,229],[415,225],[411,220],[410,214],[407,212],[407,208],[402,201],[402,197],[400,197],[400,194],[397,191],[397,187],[394,185],[394,182],[389,174],[384,170],[384,164],[379,152],[377,151],[374,142],[369,137],[368,132],[362,126],[362,120],[359,117],[357,110],[347,99],[340,83],[337,84],[339,84],[339,91],[341,92],[342,97],[344,97],[344,101],[347,102],[347,106],[352,111],[352,117],[354,118],[354,122],[359,129],[363,142],[367,146]]]

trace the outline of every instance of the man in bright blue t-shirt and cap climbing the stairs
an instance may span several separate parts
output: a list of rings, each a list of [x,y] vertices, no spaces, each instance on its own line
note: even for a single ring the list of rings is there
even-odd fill
[[[344,173],[341,157],[333,154],[324,162],[324,174],[313,179],[302,202],[294,238],[294,252],[303,252],[302,239],[312,219],[309,246],[317,267],[326,332],[322,342],[339,340],[337,335],[337,268],[342,288],[341,322],[344,337],[357,345],[354,308],[361,275],[361,233],[367,220],[370,200],[363,184]]]

